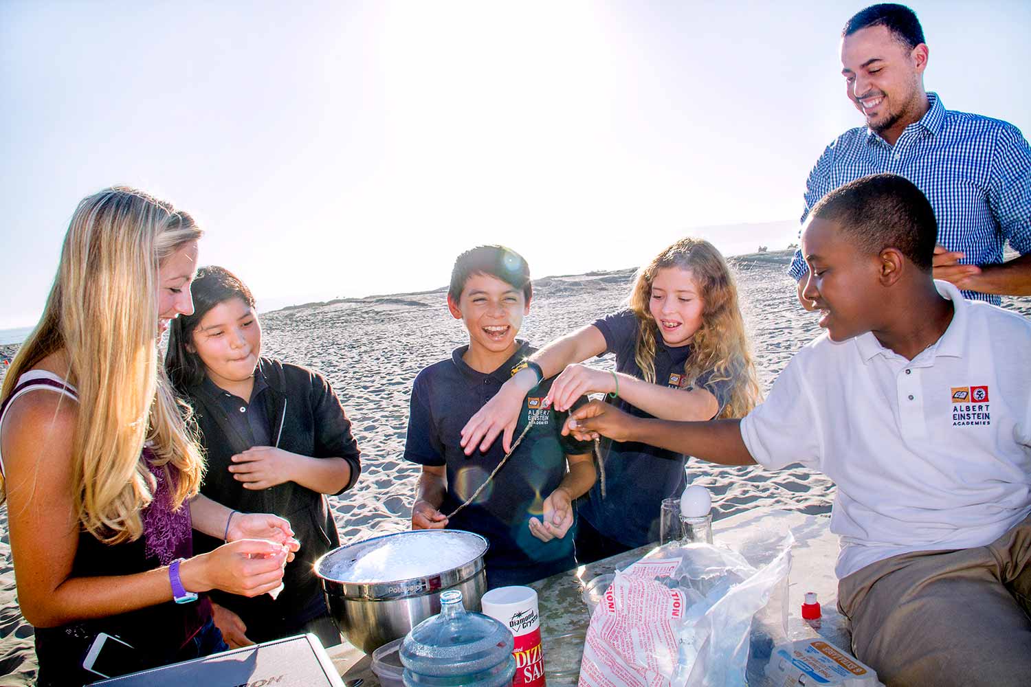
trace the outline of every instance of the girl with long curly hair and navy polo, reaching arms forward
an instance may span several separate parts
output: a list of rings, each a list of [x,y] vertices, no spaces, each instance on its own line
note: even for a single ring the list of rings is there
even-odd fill
[[[579,365],[604,353],[616,354],[616,372]],[[708,420],[741,417],[759,399],[737,287],[720,251],[699,239],[677,241],[640,269],[626,310],[530,356],[462,430],[465,452],[486,450],[498,435],[507,450],[527,389],[560,371],[545,400],[558,411],[601,392],[641,417]],[[605,496],[599,480],[578,505],[580,563],[658,540],[662,500],[684,487],[683,454],[605,442]]]

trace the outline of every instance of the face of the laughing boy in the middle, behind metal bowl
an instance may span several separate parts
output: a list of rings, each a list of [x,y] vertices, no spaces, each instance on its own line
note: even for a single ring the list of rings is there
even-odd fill
[[[499,354],[514,352],[516,335],[530,313],[522,289],[487,274],[469,277],[458,303],[448,297],[447,306],[469,330],[470,349]]]

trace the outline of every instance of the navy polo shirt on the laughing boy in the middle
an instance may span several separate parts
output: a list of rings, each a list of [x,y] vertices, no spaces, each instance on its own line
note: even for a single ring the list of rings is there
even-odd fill
[[[494,398],[512,369],[534,352],[520,341],[519,350],[492,373],[470,368],[462,356],[468,346],[457,348],[451,359],[419,373],[411,389],[411,413],[404,457],[423,466],[446,466],[447,491],[440,512],[450,514],[487,480],[504,457],[501,441],[485,453],[467,456],[460,441],[462,427],[484,404]],[[566,474],[566,455],[590,453],[591,442],[561,435],[567,414],[541,408],[553,379],[544,380],[523,402],[516,438],[533,426],[492,483],[447,524],[467,529],[490,541],[486,562],[491,586],[526,584],[576,564],[574,527],[562,539],[541,542],[530,533],[531,517],[540,517],[543,501]],[[576,405],[584,403],[580,400]]]

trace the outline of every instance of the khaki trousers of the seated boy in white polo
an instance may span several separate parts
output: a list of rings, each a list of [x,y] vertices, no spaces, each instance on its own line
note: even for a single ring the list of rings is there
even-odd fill
[[[988,546],[867,565],[838,583],[838,610],[889,687],[1027,687],[1031,517]]]

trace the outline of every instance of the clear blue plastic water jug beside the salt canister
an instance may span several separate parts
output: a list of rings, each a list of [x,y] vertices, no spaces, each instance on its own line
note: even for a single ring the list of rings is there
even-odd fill
[[[401,643],[405,687],[503,687],[516,675],[512,633],[494,618],[467,613],[462,592],[440,594],[440,614]]]

